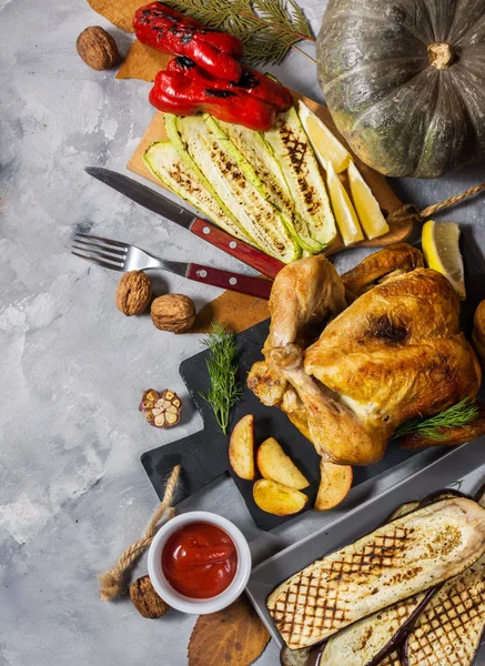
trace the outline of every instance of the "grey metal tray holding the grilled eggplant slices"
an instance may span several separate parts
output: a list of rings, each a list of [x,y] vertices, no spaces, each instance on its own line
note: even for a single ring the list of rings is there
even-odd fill
[[[265,606],[267,595],[276,585],[323,555],[371,532],[400,504],[425,497],[446,486],[459,487],[463,493],[473,494],[484,481],[485,436],[447,451],[424,468],[410,473],[377,496],[326,522],[321,529],[254,567],[246,592],[271,636],[283,647],[284,642]],[[485,664],[484,645],[476,664]]]

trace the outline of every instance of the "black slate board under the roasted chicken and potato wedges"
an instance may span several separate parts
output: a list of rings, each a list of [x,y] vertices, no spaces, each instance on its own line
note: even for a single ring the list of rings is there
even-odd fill
[[[472,239],[466,238],[465,242],[462,242],[462,253],[465,261],[467,289],[467,299],[462,307],[462,327],[469,336],[473,313],[478,303],[485,299],[485,266]],[[238,335],[239,380],[244,386],[244,393],[242,400],[233,410],[230,431],[245,414],[254,414],[256,446],[270,436],[280,442],[311,482],[309,488],[303,491],[310,497],[306,508],[303,509],[304,512],[312,507],[319,487],[320,456],[315,453],[313,445],[289,421],[283,412],[275,407],[264,406],[245,385],[247,372],[252,364],[262,359],[261,350],[267,332],[269,320]],[[202,415],[203,430],[183,440],[144,453],[141,456],[142,464],[160,498],[163,495],[165,481],[173,466],[179,463],[182,465],[183,471],[175,503],[196,493],[223,474],[231,474],[254,523],[261,529],[272,529],[295,516],[279,517],[261,511],[253,501],[253,482],[243,481],[232,473],[228,460],[229,437],[221,432],[210,406],[200,396],[201,392],[209,389],[209,376],[205,367],[208,354],[209,352],[204,350],[195,356],[186,359],[180,365],[180,374]],[[382,461],[366,467],[354,467],[353,485],[363,483],[417,453],[420,451],[405,451],[395,443],[391,443]]]

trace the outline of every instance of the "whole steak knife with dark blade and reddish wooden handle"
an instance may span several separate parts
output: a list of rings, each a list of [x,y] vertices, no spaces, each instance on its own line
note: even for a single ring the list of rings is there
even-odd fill
[[[128,178],[128,175],[100,167],[87,167],[84,171],[135,203],[143,205],[149,211],[163,215],[175,222],[175,224],[180,224],[180,226],[188,229],[194,235],[208,241],[211,245],[219,248],[226,254],[234,256],[272,280],[274,280],[284,266],[284,263],[277,259],[269,256],[249,243],[235,239],[219,226],[198,218],[183,206],[163,196],[163,194],[155,192],[146,185],[142,185],[138,181]]]

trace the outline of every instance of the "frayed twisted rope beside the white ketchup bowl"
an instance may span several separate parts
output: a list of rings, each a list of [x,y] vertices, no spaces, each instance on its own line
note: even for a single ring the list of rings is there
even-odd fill
[[[162,518],[162,516],[166,513],[166,521],[170,521],[175,515],[175,509],[170,505],[172,504],[172,500],[176,491],[176,484],[179,483],[181,468],[181,465],[173,467],[169,481],[166,482],[163,500],[154,516],[150,521],[150,524],[146,527],[143,536],[123,551],[113,568],[104,572],[103,574],[99,574],[98,579],[101,585],[100,596],[103,602],[110,602],[120,594],[123,586],[123,577],[125,572],[134,564],[134,562],[137,562],[137,559],[152,543],[153,537],[160,527],[159,521]]]

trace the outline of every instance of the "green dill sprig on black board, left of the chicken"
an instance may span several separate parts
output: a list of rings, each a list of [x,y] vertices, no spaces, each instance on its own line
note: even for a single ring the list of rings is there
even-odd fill
[[[201,396],[211,405],[215,421],[225,435],[231,407],[242,393],[242,386],[236,380],[235,336],[229,333],[221,322],[215,321],[212,324],[212,333],[206,335],[202,344],[210,352],[206,365],[211,389],[206,393],[201,393]]]

